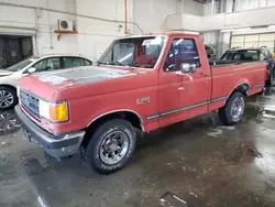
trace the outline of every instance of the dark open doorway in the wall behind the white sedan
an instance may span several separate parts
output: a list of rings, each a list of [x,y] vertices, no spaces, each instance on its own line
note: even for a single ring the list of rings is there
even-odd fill
[[[32,36],[0,35],[0,68],[7,68],[32,55]]]

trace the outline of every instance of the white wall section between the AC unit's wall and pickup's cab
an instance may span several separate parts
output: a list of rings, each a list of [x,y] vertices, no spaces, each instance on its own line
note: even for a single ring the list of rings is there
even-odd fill
[[[78,14],[123,21],[124,10],[124,0],[77,0]],[[128,11],[128,20],[131,20],[132,1],[129,1]],[[112,40],[124,35],[125,24],[78,17],[77,29],[79,52],[97,59]],[[128,32],[134,32],[132,24],[128,24]],[[136,29],[136,32],[140,31]]]

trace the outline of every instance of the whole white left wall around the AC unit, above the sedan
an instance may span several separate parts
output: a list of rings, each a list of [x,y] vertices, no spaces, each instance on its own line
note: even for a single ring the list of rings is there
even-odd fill
[[[124,35],[124,0],[0,0],[1,2],[34,7],[0,4],[0,33],[36,36],[33,39],[36,54],[74,53],[97,59],[98,53],[102,53],[113,39]],[[44,8],[37,10],[37,21],[36,7]],[[48,12],[47,9],[62,12]],[[133,21],[132,0],[129,0],[128,12],[128,20]],[[54,31],[58,28],[58,19],[75,20],[79,34],[62,34],[61,41],[57,41]],[[141,33],[132,23],[129,23],[128,29],[130,33]]]

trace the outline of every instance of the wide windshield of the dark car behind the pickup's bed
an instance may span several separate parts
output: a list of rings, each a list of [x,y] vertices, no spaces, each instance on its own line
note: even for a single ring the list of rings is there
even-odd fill
[[[221,59],[224,61],[258,61],[258,51],[256,50],[242,50],[242,51],[228,51],[222,55]]]

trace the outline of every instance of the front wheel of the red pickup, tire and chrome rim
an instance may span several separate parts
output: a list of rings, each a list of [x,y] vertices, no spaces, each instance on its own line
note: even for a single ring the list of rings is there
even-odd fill
[[[135,132],[129,121],[123,119],[107,121],[91,135],[85,150],[85,161],[97,173],[113,173],[131,160],[135,142]]]

